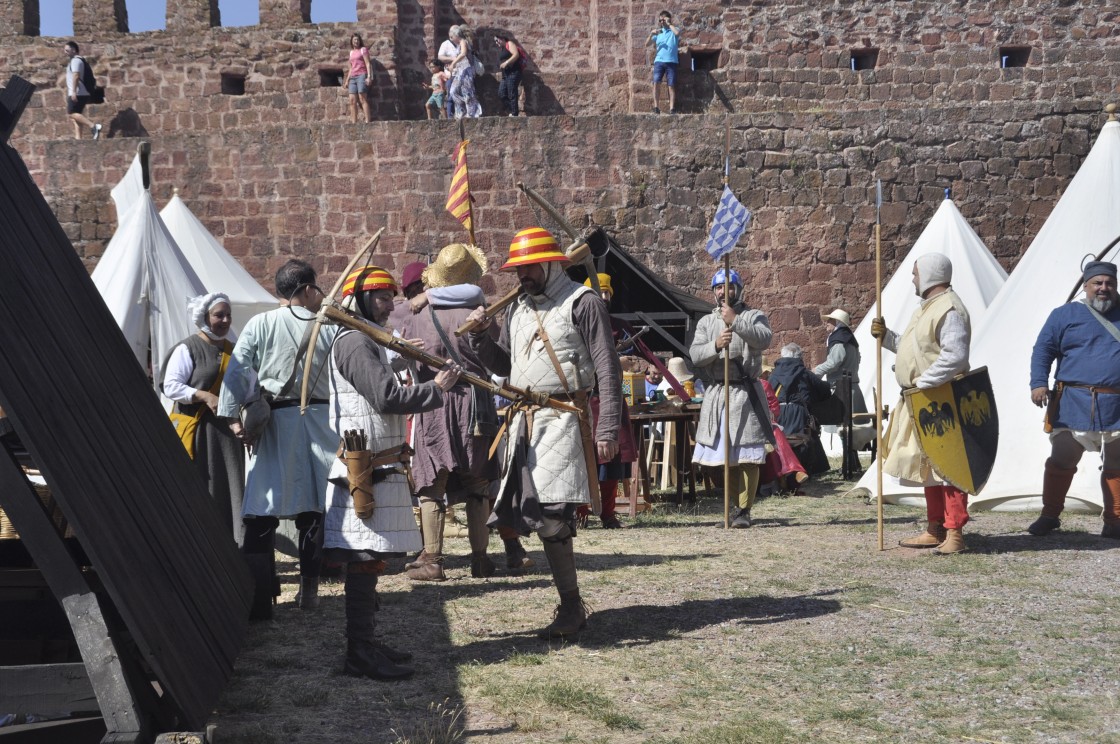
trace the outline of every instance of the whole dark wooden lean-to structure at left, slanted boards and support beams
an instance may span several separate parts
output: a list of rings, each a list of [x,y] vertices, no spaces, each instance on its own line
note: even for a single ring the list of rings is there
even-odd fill
[[[8,91],[22,87],[12,78],[0,108],[11,111]],[[6,448],[0,506],[69,620],[102,742],[202,729],[244,641],[250,577],[144,370],[6,141],[0,261],[0,407],[90,565],[75,562]],[[0,680],[54,672],[65,670],[7,668]],[[4,712],[19,697],[10,689],[0,686]]]

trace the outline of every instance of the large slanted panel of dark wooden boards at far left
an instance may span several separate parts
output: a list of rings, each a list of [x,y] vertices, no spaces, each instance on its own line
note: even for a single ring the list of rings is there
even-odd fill
[[[0,355],[0,406],[198,727],[244,639],[248,573],[73,247],[18,156],[0,150],[0,346],[21,350]]]

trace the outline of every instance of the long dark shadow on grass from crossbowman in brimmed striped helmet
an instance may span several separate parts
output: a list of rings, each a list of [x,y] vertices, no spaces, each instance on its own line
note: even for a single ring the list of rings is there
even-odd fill
[[[575,642],[590,649],[640,647],[678,640],[687,633],[725,623],[768,625],[820,617],[840,611],[840,602],[829,598],[839,592],[841,589],[791,597],[688,599],[675,605],[641,604],[604,610],[591,613],[588,629]],[[501,663],[514,654],[542,653],[547,643],[534,632],[498,633],[456,649],[456,655],[479,663]]]

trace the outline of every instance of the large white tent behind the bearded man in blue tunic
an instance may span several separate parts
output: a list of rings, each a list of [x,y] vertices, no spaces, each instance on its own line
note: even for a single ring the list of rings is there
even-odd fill
[[[1104,124],[1004,290],[973,327],[972,364],[987,365],[999,410],[999,454],[988,485],[972,504],[1008,511],[1042,506],[1043,464],[1049,438],[1043,412],[1030,402],[1030,353],[1051,310],[1080,283],[1081,264],[1120,236],[1120,123]],[[1104,258],[1116,260],[1117,250]],[[1053,374],[1053,370],[1051,370]],[[1067,509],[1100,512],[1100,455],[1086,453]]]

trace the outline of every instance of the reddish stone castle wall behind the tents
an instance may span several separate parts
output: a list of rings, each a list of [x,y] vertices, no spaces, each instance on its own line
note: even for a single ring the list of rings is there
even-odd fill
[[[458,130],[416,120],[424,62],[467,22],[492,68],[497,29],[532,56],[534,115],[466,124],[478,241],[494,261],[514,231],[548,222],[519,195],[524,180],[706,292],[729,130],[730,185],[755,212],[735,263],[778,341],[810,348],[821,309],[858,317],[874,299],[876,177],[886,276],[946,187],[1010,268],[1091,148],[1103,105],[1120,99],[1120,9],[1105,0],[685,2],[670,8],[687,45],[676,117],[643,113],[643,43],[661,3],[357,0],[355,27],[307,22],[308,0],[262,0],[260,26],[225,28],[213,0],[180,0],[168,30],[128,34],[121,0],[76,0],[75,35],[109,89],[92,115],[111,134],[77,142],[62,44],[28,35],[34,4],[0,0],[0,68],[40,86],[12,143],[91,267],[138,137],[152,142],[157,203],[179,187],[265,286],[290,255],[339,271],[382,225],[380,258],[396,268],[460,239],[442,211]],[[323,85],[354,30],[376,59],[372,124],[346,122],[342,89]],[[852,71],[853,53],[870,50],[876,67]],[[1001,67],[1005,55],[1027,64]],[[717,67],[692,72],[693,57]],[[222,93],[223,73],[244,77],[244,95]],[[496,114],[493,75],[479,87]],[[1071,261],[1100,248],[1071,247]],[[495,281],[506,280],[486,288]]]

